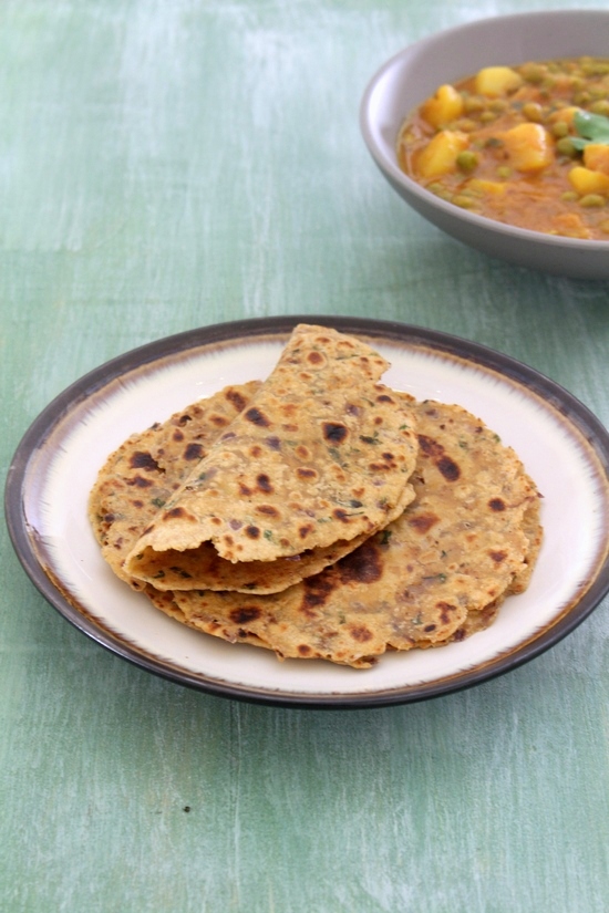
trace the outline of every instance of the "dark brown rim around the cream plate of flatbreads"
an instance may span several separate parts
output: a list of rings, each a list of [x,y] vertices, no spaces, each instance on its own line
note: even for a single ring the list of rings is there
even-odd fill
[[[271,706],[316,709],[357,709],[390,706],[424,701],[462,691],[527,663],[574,631],[609,592],[609,543],[600,561],[598,572],[584,595],[570,605],[568,611],[564,612],[555,623],[544,629],[538,635],[509,651],[506,655],[498,655],[464,672],[437,678],[433,682],[374,692],[300,694],[239,686],[206,675],[197,675],[154,655],[146,654],[136,645],[130,644],[117,636],[115,632],[104,629],[99,620],[87,613],[84,606],[74,605],[70,601],[69,594],[62,592],[61,584],[52,580],[42,567],[37,551],[37,543],[31,530],[28,528],[24,513],[24,495],[30,460],[41,450],[53,429],[74,407],[80,406],[109,383],[131,371],[199,346],[247,340],[248,338],[288,334],[297,323],[314,323],[344,333],[365,335],[372,340],[376,338],[380,341],[420,345],[465,360],[468,364],[495,371],[533,391],[567,418],[595,452],[605,471],[605,477],[609,478],[609,434],[593,413],[554,381],[522,362],[479,343],[398,321],[370,320],[355,317],[298,314],[217,323],[147,343],[102,364],[60,393],[25,432],[8,471],[4,488],[6,518],[14,551],[25,573],[47,601],[76,629],[110,652],[163,678],[217,696]]]

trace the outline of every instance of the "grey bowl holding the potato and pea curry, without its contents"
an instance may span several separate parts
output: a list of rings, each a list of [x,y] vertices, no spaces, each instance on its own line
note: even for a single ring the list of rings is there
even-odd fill
[[[398,165],[402,123],[438,85],[483,66],[555,58],[609,56],[609,11],[556,10],[494,17],[437,32],[392,56],[372,77],[360,128],[394,190],[433,225],[492,257],[577,279],[609,278],[609,240],[581,240],[517,228],[461,209],[410,178]]]

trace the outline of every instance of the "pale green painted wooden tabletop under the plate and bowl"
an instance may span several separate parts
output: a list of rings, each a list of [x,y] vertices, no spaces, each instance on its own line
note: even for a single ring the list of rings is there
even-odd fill
[[[4,0],[3,474],[38,413],[104,361],[285,313],[465,336],[607,424],[609,283],[445,237],[385,185],[358,126],[390,54],[545,6]],[[607,909],[606,605],[471,691],[272,708],[104,651],[38,594],[0,536],[0,910]]]

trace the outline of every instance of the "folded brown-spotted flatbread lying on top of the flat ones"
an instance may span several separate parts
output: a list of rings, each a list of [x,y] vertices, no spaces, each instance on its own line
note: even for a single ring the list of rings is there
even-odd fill
[[[300,324],[256,394],[125,561],[159,590],[272,593],[317,573],[414,497],[411,404],[367,343]]]

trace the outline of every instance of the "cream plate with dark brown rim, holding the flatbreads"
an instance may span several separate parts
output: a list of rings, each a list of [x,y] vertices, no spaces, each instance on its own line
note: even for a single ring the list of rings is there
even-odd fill
[[[486,631],[437,650],[388,653],[371,670],[280,663],[154,609],[114,577],[86,517],[106,456],[133,432],[229,383],[264,378],[296,323],[367,339],[383,381],[457,403],[514,447],[543,498],[545,539],[528,590]],[[47,600],[102,646],[216,695],[275,705],[371,707],[447,694],[508,672],[572,631],[609,591],[609,436],[567,391],[530,367],[441,332],[358,318],[281,317],[206,326],[149,343],[72,384],[19,445],[6,488],[21,563]]]

